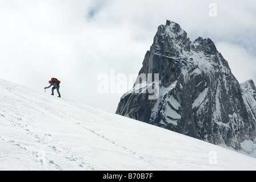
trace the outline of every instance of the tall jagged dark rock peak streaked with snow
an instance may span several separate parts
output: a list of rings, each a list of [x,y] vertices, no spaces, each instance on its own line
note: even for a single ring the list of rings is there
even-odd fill
[[[255,139],[255,98],[247,98],[211,39],[191,42],[179,24],[167,20],[158,27],[141,73],[159,74],[158,99],[126,94],[117,114],[235,150]]]

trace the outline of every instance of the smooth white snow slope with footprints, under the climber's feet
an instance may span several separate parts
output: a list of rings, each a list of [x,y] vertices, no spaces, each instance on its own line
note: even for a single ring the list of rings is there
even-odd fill
[[[0,80],[0,170],[255,170],[256,159]]]

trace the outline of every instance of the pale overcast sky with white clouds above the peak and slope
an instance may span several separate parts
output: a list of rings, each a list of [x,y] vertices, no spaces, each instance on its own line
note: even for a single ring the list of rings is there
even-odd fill
[[[255,0],[0,0],[0,78],[43,93],[57,77],[63,98],[114,113],[123,93],[99,93],[99,75],[138,73],[166,19],[256,83]]]

